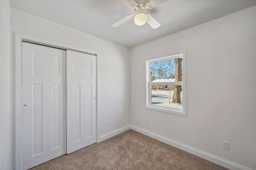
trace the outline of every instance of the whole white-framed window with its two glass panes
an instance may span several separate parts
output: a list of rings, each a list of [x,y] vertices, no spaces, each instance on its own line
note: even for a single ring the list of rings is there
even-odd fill
[[[146,63],[146,109],[186,116],[186,52]]]

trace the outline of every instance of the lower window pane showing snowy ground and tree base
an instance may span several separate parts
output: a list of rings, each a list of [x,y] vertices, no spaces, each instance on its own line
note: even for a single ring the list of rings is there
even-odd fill
[[[182,109],[182,86],[151,85],[151,104]]]

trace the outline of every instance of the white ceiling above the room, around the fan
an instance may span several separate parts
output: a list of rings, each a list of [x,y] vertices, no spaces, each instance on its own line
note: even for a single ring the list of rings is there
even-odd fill
[[[79,31],[135,47],[256,5],[256,0],[168,0],[145,12],[161,26],[136,26],[133,19],[110,25],[134,9],[127,0],[10,0],[10,6]],[[146,29],[145,29],[146,28]]]

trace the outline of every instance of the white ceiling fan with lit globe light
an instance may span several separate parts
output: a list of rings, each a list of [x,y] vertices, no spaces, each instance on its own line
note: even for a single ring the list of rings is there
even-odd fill
[[[116,21],[111,26],[118,27],[119,25],[125,23],[126,21],[134,18],[134,23],[136,25],[144,25],[148,23],[153,29],[158,28],[161,24],[156,21],[150,14],[146,14],[144,11],[152,9],[168,0],[126,0],[136,11],[134,14],[129,14],[128,16]]]

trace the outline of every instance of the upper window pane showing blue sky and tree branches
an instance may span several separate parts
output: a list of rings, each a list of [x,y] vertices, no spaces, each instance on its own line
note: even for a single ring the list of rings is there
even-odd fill
[[[181,82],[182,57],[150,62],[150,82]]]

